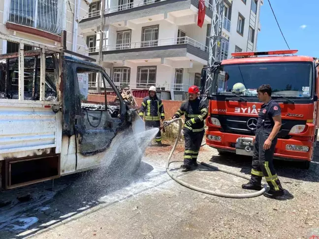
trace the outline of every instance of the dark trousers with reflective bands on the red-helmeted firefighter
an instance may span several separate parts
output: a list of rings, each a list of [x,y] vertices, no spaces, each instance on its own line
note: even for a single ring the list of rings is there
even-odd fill
[[[184,165],[191,166],[196,162],[205,131],[193,132],[184,127],[185,151]]]

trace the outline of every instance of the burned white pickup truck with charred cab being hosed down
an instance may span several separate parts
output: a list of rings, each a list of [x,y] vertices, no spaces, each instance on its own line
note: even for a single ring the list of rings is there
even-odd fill
[[[123,146],[141,140],[134,135],[145,130],[144,123],[102,67],[63,44],[59,49],[1,33],[0,39],[19,44],[18,53],[0,55],[2,188],[101,166],[106,173],[137,171],[146,147],[135,142],[123,156]],[[26,45],[32,50],[26,51]],[[88,103],[81,92],[83,81],[94,77],[104,89],[104,104]],[[116,101],[107,102],[107,87]]]

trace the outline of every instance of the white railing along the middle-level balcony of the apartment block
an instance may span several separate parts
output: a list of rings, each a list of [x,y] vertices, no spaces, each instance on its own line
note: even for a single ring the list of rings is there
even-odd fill
[[[122,43],[116,45],[103,46],[103,51],[114,51],[114,50],[124,50],[124,49],[136,49],[136,48],[146,48],[146,47],[157,47],[157,46],[170,46],[178,44],[188,44],[193,47],[196,47],[204,52],[208,52],[208,47],[204,44],[191,39],[188,36],[178,37],[178,38],[169,38],[161,40],[152,40],[152,41],[140,41],[140,42],[131,42],[131,43]],[[99,47],[90,47],[89,53],[98,52]]]

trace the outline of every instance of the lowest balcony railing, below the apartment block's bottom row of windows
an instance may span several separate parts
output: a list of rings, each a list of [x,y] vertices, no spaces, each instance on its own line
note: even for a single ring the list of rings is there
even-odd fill
[[[159,90],[174,90],[174,91],[185,91],[187,92],[190,88],[190,85],[186,84],[168,84],[168,83],[133,83],[130,84],[128,82],[113,82],[114,85],[118,88],[129,84],[130,89],[149,89],[151,86],[155,86]],[[89,82],[89,87],[96,88],[97,82]],[[110,88],[111,86],[106,83],[106,88]],[[103,82],[100,82],[100,88],[103,88]]]

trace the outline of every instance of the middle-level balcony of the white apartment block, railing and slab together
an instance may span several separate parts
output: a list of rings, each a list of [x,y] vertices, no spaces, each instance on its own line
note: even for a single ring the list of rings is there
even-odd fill
[[[99,47],[91,47],[89,55],[97,57],[98,51]],[[208,47],[187,36],[108,45],[103,46],[102,52],[107,55],[107,61],[185,58],[188,54],[202,59],[203,62],[208,60]]]

